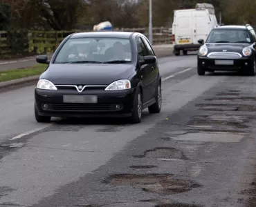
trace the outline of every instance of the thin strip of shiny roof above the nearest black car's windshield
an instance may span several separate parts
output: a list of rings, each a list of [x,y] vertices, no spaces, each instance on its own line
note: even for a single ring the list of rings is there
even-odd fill
[[[116,38],[129,38],[134,32],[78,32],[74,33],[70,38],[83,38],[83,37],[116,37]]]

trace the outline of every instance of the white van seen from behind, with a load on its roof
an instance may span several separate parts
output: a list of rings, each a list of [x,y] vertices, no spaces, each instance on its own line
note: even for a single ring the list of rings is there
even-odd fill
[[[199,39],[204,41],[208,34],[218,25],[214,14],[214,7],[210,3],[197,3],[195,9],[175,10],[172,23],[172,41],[174,55],[188,54],[188,50],[198,50]]]

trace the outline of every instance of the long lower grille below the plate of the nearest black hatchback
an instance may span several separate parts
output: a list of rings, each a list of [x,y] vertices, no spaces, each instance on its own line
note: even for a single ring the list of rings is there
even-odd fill
[[[45,103],[44,103],[45,104]],[[60,111],[118,111],[116,104],[110,103],[46,103],[48,108],[44,110],[60,110]],[[43,105],[43,104],[42,104]],[[120,109],[119,109],[120,110]]]

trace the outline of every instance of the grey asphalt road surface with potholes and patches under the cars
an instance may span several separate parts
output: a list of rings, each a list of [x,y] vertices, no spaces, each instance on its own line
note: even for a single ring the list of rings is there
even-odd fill
[[[136,125],[37,124],[34,86],[1,92],[0,206],[255,206],[256,77],[159,63],[162,112]]]

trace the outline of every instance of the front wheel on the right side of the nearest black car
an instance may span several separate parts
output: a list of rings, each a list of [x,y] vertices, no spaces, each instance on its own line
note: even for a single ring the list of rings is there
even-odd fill
[[[131,122],[133,124],[140,123],[142,114],[143,114],[143,99],[142,99],[141,91],[138,88],[138,92],[136,93],[136,97],[134,99],[134,110],[130,118]]]

